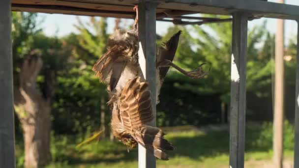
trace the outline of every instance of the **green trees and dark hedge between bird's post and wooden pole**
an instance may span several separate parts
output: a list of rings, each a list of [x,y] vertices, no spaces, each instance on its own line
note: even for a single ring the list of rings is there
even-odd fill
[[[187,70],[207,63],[206,71],[209,66],[211,70],[204,79],[193,80],[170,69],[157,107],[158,124],[174,126],[220,122],[221,102],[227,105],[230,103],[232,24],[170,27],[167,33],[157,40],[157,46],[179,29],[183,32],[174,62]],[[249,29],[246,85],[247,94],[255,97],[249,101],[271,100],[273,46],[274,36],[267,32],[266,23]],[[267,103],[271,106],[271,101]],[[256,116],[259,112],[255,104],[248,103],[248,115]],[[271,112],[269,108],[268,111]]]

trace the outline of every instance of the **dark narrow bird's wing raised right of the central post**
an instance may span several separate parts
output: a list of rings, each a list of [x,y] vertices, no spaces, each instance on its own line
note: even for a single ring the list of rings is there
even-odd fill
[[[174,34],[166,43],[163,43],[163,46],[159,47],[159,54],[157,55],[157,64],[164,61],[164,59],[173,61],[179,43],[179,35],[181,34],[181,30],[179,30],[176,34]],[[158,66],[158,65],[157,65]],[[168,70],[168,67],[160,67],[159,68],[160,79],[164,80]]]

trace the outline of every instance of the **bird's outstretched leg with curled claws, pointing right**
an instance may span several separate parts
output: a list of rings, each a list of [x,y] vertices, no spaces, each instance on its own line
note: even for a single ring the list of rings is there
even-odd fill
[[[187,77],[190,77],[192,79],[200,79],[203,78],[204,76],[209,74],[210,71],[210,67],[209,67],[209,71],[205,72],[202,69],[202,66],[205,65],[206,63],[203,63],[201,65],[199,65],[198,68],[196,68],[193,71],[186,71],[182,68],[180,68],[178,65],[176,65],[175,63],[173,63],[172,61],[168,60],[168,59],[164,59],[163,61],[159,62],[158,67],[174,67],[175,69],[177,69],[179,72],[181,72],[182,74],[186,75]]]

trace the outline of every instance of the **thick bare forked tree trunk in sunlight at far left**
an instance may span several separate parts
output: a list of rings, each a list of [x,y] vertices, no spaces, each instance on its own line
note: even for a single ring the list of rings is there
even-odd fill
[[[39,57],[26,58],[14,90],[15,112],[24,134],[25,168],[39,168],[51,161],[51,100],[44,98],[36,87],[41,67]]]

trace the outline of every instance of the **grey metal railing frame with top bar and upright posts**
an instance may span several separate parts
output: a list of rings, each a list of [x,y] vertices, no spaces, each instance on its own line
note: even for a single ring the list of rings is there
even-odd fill
[[[10,3],[15,11],[121,18],[133,18],[133,11],[126,10],[139,4],[140,65],[153,93],[154,113],[155,20],[169,17],[185,19],[181,15],[192,13],[233,15],[230,168],[244,167],[248,18],[299,20],[299,6],[265,0],[0,0],[0,168],[15,167]],[[299,44],[296,100],[294,168],[299,168]],[[155,168],[155,158],[142,146],[139,146],[139,168]]]

